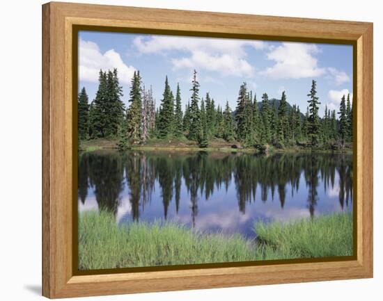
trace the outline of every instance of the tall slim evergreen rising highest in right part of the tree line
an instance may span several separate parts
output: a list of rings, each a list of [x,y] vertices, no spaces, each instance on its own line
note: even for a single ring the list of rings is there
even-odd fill
[[[310,93],[307,95],[310,97],[308,102],[308,108],[310,111],[310,115],[308,115],[308,138],[311,142],[311,146],[315,147],[319,143],[319,135],[320,135],[320,118],[318,115],[318,109],[320,102],[318,101],[318,97],[316,96],[316,81],[312,81]]]

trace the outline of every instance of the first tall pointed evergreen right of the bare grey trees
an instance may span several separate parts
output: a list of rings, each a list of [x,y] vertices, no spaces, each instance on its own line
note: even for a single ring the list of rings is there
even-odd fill
[[[161,101],[161,108],[159,109],[159,120],[158,120],[159,138],[165,138],[166,136],[173,134],[173,125],[174,125],[173,117],[174,117],[173,92],[171,92],[171,88],[168,82],[168,76],[166,76],[164,94]]]

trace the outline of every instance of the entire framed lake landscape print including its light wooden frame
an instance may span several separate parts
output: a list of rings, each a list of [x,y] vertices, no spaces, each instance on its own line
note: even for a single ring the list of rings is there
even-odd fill
[[[42,6],[49,298],[373,276],[373,25]]]

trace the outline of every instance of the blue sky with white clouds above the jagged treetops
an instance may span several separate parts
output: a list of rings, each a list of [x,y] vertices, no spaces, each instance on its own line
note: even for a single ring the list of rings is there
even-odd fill
[[[305,113],[314,79],[321,116],[326,104],[338,111],[343,95],[350,93],[352,98],[351,45],[80,31],[78,57],[78,88],[86,88],[90,101],[97,92],[100,69],[113,68],[118,70],[127,106],[135,70],[147,89],[153,87],[157,106],[168,76],[174,94],[180,84],[185,109],[194,69],[200,96],[209,92],[215,104],[224,106],[228,101],[233,110],[243,82],[258,101],[265,92],[269,99],[280,99],[286,91],[287,101]]]

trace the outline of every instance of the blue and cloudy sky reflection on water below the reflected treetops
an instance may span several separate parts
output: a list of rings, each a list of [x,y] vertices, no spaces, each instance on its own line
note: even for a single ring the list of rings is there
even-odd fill
[[[329,184],[325,187],[325,181],[322,181],[321,172],[318,173],[317,202],[314,206],[313,215],[322,215],[338,211],[352,210],[352,200],[344,202],[343,208],[339,196],[340,177],[338,170],[334,174],[334,186]],[[267,188],[267,199],[262,201],[261,186],[256,187],[255,198],[244,203],[244,209],[240,211],[237,197],[237,188],[234,174],[232,173],[226,189],[225,184],[217,186],[214,184],[214,190],[205,198],[205,191],[198,188],[196,199],[197,209],[192,210],[192,201],[190,193],[185,185],[185,179],[181,179],[180,202],[178,212],[176,211],[175,193],[169,206],[167,207],[167,218],[170,222],[177,222],[195,231],[213,231],[223,232],[224,234],[242,234],[247,237],[254,236],[253,223],[256,220],[265,222],[279,220],[282,222],[297,218],[309,218],[308,195],[309,187],[306,184],[304,172],[300,173],[299,188],[292,188],[288,182],[285,186],[285,202],[281,206],[278,186],[274,186],[274,195],[272,189]],[[174,189],[174,186],[173,186]],[[202,193],[201,193],[202,192]],[[350,199],[352,197],[350,196]],[[98,205],[93,187],[88,188],[88,194],[84,204],[79,201],[79,211],[98,210]],[[243,208],[243,207],[242,207]],[[150,200],[139,203],[140,221],[153,222],[154,220],[164,220],[164,203],[162,200],[162,188],[158,178],[155,179],[153,191]],[[127,180],[123,177],[123,190],[119,194],[118,206],[116,210],[116,221],[132,222],[132,204],[130,202],[130,188]],[[194,222],[193,222],[194,220]]]

